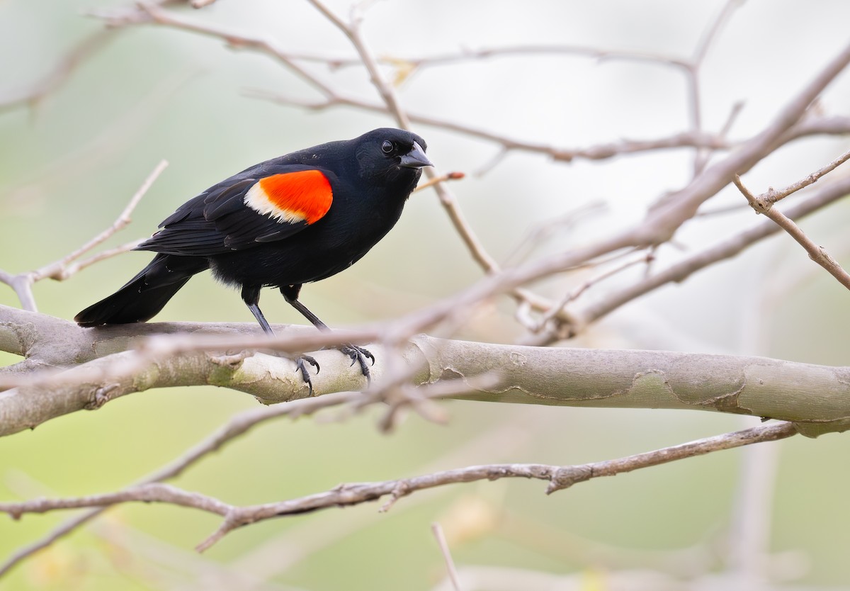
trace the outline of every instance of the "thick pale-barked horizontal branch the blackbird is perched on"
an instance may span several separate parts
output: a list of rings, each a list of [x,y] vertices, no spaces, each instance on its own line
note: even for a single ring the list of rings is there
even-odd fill
[[[62,321],[57,323],[61,326]],[[243,350],[242,344],[252,341],[238,334],[230,334],[229,338],[213,335],[201,341],[195,338],[194,344],[193,338],[187,340],[184,335],[160,336],[150,345],[151,351],[143,348],[113,352],[122,342],[119,338],[105,341],[108,348],[99,349],[88,340],[92,338],[92,329],[81,329],[70,322],[65,325],[68,332],[89,332],[88,338],[81,338],[79,343],[88,341],[90,351],[99,350],[105,356],[0,393],[3,435],[30,429],[68,412],[94,410],[122,395],[166,386],[213,384],[250,393],[267,403],[308,395],[292,361]],[[169,332],[179,327],[143,326]],[[364,333],[369,332],[380,329]],[[296,349],[295,345],[310,343],[312,338],[340,340],[348,339],[351,334],[357,332],[304,336],[302,332],[302,335],[294,334],[288,342],[286,338],[278,338],[266,343]],[[212,347],[217,353],[199,346],[208,347],[213,338],[218,338],[218,344]],[[178,346],[169,346],[169,341],[175,339]],[[129,341],[124,344],[130,346]],[[373,367],[375,389],[394,384],[398,378],[396,373],[388,375],[388,368],[400,367],[402,371],[398,375],[409,376],[413,384],[462,380],[468,389],[446,393],[450,398],[734,412],[793,421],[806,435],[843,430],[850,424],[850,368],[847,367],[667,351],[544,349],[425,335],[413,338],[401,349],[400,358],[395,356],[398,354],[394,349],[375,350],[378,359]],[[65,355],[68,353],[65,351]],[[343,355],[334,350],[319,351],[317,355],[322,367],[327,367],[314,378],[317,395],[365,387],[365,378],[350,371]],[[494,370],[498,372],[497,384],[482,386],[476,382],[479,376]]]

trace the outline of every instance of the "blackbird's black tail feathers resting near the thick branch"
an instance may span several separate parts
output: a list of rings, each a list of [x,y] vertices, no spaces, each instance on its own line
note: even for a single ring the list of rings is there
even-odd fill
[[[74,320],[81,327],[149,321],[195,273],[209,268],[207,259],[157,254],[127,285],[82,310]]]

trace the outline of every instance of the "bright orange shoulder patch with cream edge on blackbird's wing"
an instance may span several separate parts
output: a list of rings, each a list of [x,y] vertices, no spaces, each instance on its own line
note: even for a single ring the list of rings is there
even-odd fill
[[[245,194],[246,206],[290,224],[319,221],[331,202],[331,183],[318,170],[272,174],[259,179]]]

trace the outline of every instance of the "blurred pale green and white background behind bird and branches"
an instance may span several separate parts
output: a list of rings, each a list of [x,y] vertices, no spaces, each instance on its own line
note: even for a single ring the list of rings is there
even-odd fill
[[[347,1],[327,4],[347,17]],[[761,130],[847,44],[850,22],[850,3],[842,0],[740,4],[700,69],[707,130],[722,128],[743,101],[730,131],[733,139]],[[720,0],[386,0],[369,3],[363,34],[375,54],[399,58],[569,44],[689,59],[724,5]],[[105,229],[163,158],[169,166],[133,213],[133,224],[107,247],[149,236],[179,204],[255,162],[394,125],[389,116],[352,107],[305,111],[258,99],[258,92],[300,101],[322,97],[267,55],[150,25],[98,37],[97,46],[56,88],[32,103],[14,101],[50,71],[61,70],[80,43],[99,35],[103,22],[91,12],[127,6],[102,0],[0,0],[3,270],[17,273],[47,264]],[[269,38],[292,54],[356,58],[340,31],[306,2],[218,0],[201,10],[167,8],[186,20]],[[360,65],[299,63],[340,94],[379,100]],[[399,73],[386,67],[390,76]],[[578,148],[688,129],[684,81],[672,65],[525,54],[422,68],[399,77],[398,90],[402,105],[417,114],[507,138]],[[819,108],[847,115],[848,104],[845,72]],[[433,126],[414,130],[428,141],[428,156],[439,170],[467,173],[451,189],[484,246],[504,263],[560,252],[632,224],[692,173],[693,151],[687,149],[569,164],[516,151],[489,167],[499,152],[492,142]],[[754,192],[788,185],[846,151],[847,144],[844,137],[798,141],[760,163],[745,182]],[[735,190],[712,199],[707,209],[741,207],[688,224],[677,234],[676,247],[660,249],[659,264],[760,221],[743,203]],[[582,217],[581,224],[553,225],[593,204],[600,204],[601,212]],[[845,266],[850,264],[847,207],[839,202],[802,224]],[[523,245],[530,234],[545,239],[529,253]],[[149,258],[125,253],[69,281],[39,282],[39,310],[71,318],[120,287]],[[480,276],[445,211],[426,190],[411,197],[399,224],[364,260],[304,287],[302,300],[331,326],[341,327],[416,310]],[[585,278],[558,276],[539,288],[559,298]],[[847,365],[848,298],[782,235],[626,305],[564,345]],[[0,304],[20,306],[6,286],[0,286]],[[262,304],[271,322],[302,321],[275,292],[265,293]],[[515,342],[524,330],[513,313],[507,300],[480,310],[462,337]],[[237,293],[197,276],[156,320],[252,318]],[[0,362],[14,361],[0,354]],[[177,457],[234,412],[256,405],[250,396],[224,389],[163,389],[128,396],[99,412],[59,418],[0,440],[0,497],[116,490]],[[604,460],[753,424],[704,412],[459,401],[446,402],[445,410],[448,424],[411,416],[389,435],[376,429],[380,409],[346,420],[331,411],[294,423],[268,423],[207,458],[177,484],[228,503],[264,503],[340,482],[475,463]],[[658,572],[671,574],[681,588],[728,588],[736,569],[762,573],[778,588],[845,588],[850,586],[846,466],[846,438],[796,437],[593,480],[552,497],[543,495],[540,482],[486,482],[420,492],[387,514],[366,504],[267,521],[231,533],[202,555],[192,548],[218,526],[217,519],[184,509],[127,505],[20,565],[0,580],[0,588],[430,589],[445,576],[430,530],[434,521],[444,527],[459,568],[506,569],[479,571],[499,575],[502,586],[494,582],[491,588],[606,589],[621,584],[618,577],[638,582]],[[0,520],[0,560],[68,516]],[[551,575],[552,586],[533,587],[530,571]]]

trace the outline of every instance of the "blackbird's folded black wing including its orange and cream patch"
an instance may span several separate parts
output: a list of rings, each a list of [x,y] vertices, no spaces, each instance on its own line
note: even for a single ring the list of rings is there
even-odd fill
[[[322,219],[333,173],[303,166],[248,170],[204,191],[160,224],[137,249],[212,256],[292,236]],[[249,174],[253,172],[253,174]]]

